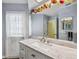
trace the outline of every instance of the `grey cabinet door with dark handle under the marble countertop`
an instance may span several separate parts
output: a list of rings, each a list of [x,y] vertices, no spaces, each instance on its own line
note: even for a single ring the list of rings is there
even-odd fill
[[[29,59],[45,59],[45,56],[29,48],[28,58]]]

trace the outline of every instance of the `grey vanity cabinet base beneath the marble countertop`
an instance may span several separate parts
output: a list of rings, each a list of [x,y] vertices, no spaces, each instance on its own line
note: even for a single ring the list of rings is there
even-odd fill
[[[20,59],[53,59],[35,51],[29,47],[20,44]]]

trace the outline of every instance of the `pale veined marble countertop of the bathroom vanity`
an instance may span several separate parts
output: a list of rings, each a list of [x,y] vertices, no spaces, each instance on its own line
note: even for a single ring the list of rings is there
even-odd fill
[[[75,48],[57,44],[50,46],[36,39],[25,39],[20,43],[54,59],[77,59],[77,49]]]

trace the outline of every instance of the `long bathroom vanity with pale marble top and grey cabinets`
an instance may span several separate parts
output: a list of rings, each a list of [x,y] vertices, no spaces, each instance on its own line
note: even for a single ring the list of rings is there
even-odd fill
[[[76,59],[77,49],[65,44],[43,43],[36,39],[20,41],[20,59]],[[71,43],[73,45],[73,43]],[[75,45],[74,45],[75,46]]]

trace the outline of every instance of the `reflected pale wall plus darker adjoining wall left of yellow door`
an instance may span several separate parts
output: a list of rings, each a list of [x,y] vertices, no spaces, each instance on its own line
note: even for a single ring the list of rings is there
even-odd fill
[[[32,36],[42,36],[47,33],[47,16],[42,14],[32,14]]]

